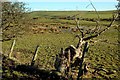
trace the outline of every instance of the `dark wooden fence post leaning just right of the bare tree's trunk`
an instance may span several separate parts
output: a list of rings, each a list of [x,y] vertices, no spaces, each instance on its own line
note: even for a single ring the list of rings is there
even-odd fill
[[[88,50],[88,42],[85,43],[84,45],[84,50],[83,50],[83,54],[82,54],[82,58],[81,58],[81,62],[79,64],[79,72],[78,72],[78,77],[77,77],[77,80],[81,80],[82,78],[79,79],[79,77],[82,76],[82,73],[83,73],[83,70],[82,70],[82,64],[83,64],[83,61],[84,61],[84,56],[85,56],[85,53],[87,52]]]

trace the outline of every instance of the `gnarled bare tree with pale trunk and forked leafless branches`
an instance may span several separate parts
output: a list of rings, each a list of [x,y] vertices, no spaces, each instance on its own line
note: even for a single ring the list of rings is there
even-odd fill
[[[90,2],[90,4],[95,9],[95,7],[92,4],[92,2]],[[110,22],[110,24],[107,25],[104,28],[101,28],[101,26],[99,24],[100,17],[99,17],[99,14],[98,14],[98,12],[97,12],[96,9],[95,9],[95,12],[98,15],[98,19],[96,20],[96,26],[94,28],[88,28],[88,29],[84,28],[84,27],[81,28],[80,24],[79,24],[80,23],[79,22],[80,19],[76,18],[76,15],[72,16],[72,17],[74,17],[74,20],[75,20],[75,23],[76,23],[76,27],[78,28],[78,30],[80,32],[79,35],[75,36],[75,37],[77,37],[79,39],[78,44],[77,44],[76,47],[73,46],[73,45],[70,45],[65,50],[62,50],[62,53],[60,53],[56,57],[57,58],[56,60],[59,59],[58,63],[62,62],[62,64],[59,64],[59,66],[56,67],[56,69],[59,69],[59,71],[62,71],[63,68],[64,68],[65,71],[69,71],[68,70],[69,67],[73,67],[75,65],[80,66],[79,67],[78,77],[77,77],[78,80],[79,80],[79,77],[81,77],[81,75],[82,75],[82,71],[88,70],[88,69],[82,70],[82,66],[83,66],[83,62],[84,62],[85,53],[88,51],[88,45],[89,45],[89,43],[91,42],[91,40],[93,40],[94,38],[97,38],[102,33],[104,33],[105,31],[107,31],[112,26],[112,24],[115,22],[115,20],[118,17],[118,14],[114,14],[113,15],[113,19]],[[93,40],[93,42],[96,42],[96,41]],[[69,51],[70,51],[70,56],[69,56]],[[60,60],[60,58],[64,58],[64,59]],[[69,59],[71,59],[71,60],[69,60]],[[61,66],[61,65],[64,65],[64,66]],[[85,68],[86,67],[87,67],[87,65],[85,65]]]

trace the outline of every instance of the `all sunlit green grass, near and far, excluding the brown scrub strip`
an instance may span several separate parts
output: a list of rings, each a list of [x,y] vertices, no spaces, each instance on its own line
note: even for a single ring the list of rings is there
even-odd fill
[[[67,11],[67,12],[31,12],[29,13],[29,18],[31,20],[30,28],[33,26],[46,25],[50,27],[59,26],[76,26],[73,20],[66,19],[51,19],[51,17],[66,17],[72,16],[79,12]],[[100,18],[111,18],[113,11],[99,12]],[[80,15],[83,18],[97,18],[95,12],[85,12],[80,11]],[[37,19],[33,19],[36,18]],[[41,23],[41,24],[40,24]],[[53,24],[54,23],[54,24]],[[93,21],[80,21],[80,25],[87,27],[94,27],[96,25]],[[101,21],[101,26],[104,28],[108,25],[110,21]],[[52,25],[51,25],[52,24]],[[115,23],[116,24],[116,23]],[[27,27],[27,26],[26,26]],[[74,40],[74,36],[79,34],[79,32],[44,32],[34,34],[31,30],[26,31],[22,36],[16,38],[16,45],[12,56],[19,60],[21,64],[30,64],[32,56],[35,51],[35,47],[40,45],[38,52],[38,57],[35,65],[38,68],[43,68],[44,70],[54,70],[55,55],[60,52],[61,48],[66,48],[69,45],[75,45],[78,39]],[[111,27],[108,31],[95,38],[96,40],[102,39],[105,41],[98,41],[96,43],[91,43],[88,53],[85,56],[86,62],[90,63],[90,75],[84,76],[84,78],[120,78],[119,70],[119,52],[118,52],[118,31],[115,26]],[[13,40],[3,42],[3,53],[8,54],[10,52],[10,47]],[[102,71],[100,69],[104,69]],[[94,73],[94,70],[98,70],[98,73]],[[19,73],[23,74],[23,73]],[[15,74],[16,75],[16,74]],[[19,75],[17,75],[19,76]],[[9,77],[9,76],[8,76]]]

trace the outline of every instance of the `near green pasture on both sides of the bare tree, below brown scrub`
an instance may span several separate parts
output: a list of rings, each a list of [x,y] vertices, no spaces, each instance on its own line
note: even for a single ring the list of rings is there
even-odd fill
[[[36,65],[39,68],[46,70],[54,69],[55,55],[60,52],[60,48],[66,48],[69,45],[76,45],[77,39],[73,41],[74,35],[71,33],[43,33],[43,34],[25,34],[17,38],[14,48],[13,56],[16,54],[20,56],[18,60],[23,64],[30,64],[33,53],[37,45],[40,45]],[[97,39],[106,39],[107,42],[117,43],[117,31],[110,28]],[[9,53],[12,41],[3,43],[3,52]],[[115,70],[114,75],[106,75],[108,77],[118,76],[119,72],[119,57],[117,53],[117,45],[109,44],[106,42],[97,42],[90,45],[89,51],[86,54],[86,62],[92,65],[92,68],[104,65],[106,70]],[[17,54],[17,53],[20,54]],[[100,72],[102,74],[102,72]]]

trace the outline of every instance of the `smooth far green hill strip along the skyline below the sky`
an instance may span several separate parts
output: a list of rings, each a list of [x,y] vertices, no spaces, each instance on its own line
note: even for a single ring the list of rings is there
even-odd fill
[[[115,11],[98,11],[100,18],[111,18],[112,14]],[[76,14],[78,17],[82,18],[97,18],[97,14],[94,11],[36,11],[29,13],[31,17],[67,17],[67,16],[73,16]]]

